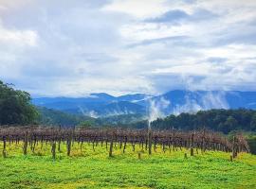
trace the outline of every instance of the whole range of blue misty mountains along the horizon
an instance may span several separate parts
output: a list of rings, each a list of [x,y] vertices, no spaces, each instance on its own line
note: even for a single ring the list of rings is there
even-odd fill
[[[131,113],[147,115],[152,108],[157,109],[163,115],[168,115],[210,109],[246,108],[256,110],[256,92],[174,90],[156,96],[150,94],[113,96],[100,93],[78,98],[33,98],[32,103],[48,109],[91,117]]]

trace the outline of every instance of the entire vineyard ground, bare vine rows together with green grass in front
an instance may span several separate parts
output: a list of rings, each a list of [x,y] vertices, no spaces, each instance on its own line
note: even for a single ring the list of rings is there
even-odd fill
[[[2,127],[0,139],[0,189],[256,187],[242,135]]]

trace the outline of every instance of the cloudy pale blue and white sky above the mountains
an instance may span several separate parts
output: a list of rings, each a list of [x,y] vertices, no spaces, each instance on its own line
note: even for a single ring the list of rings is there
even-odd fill
[[[33,96],[256,91],[255,0],[0,0],[0,79]]]

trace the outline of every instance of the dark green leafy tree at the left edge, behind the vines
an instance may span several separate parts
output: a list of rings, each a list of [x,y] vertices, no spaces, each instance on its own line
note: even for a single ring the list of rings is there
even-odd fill
[[[34,123],[38,112],[30,100],[30,94],[14,90],[0,80],[0,125]]]

